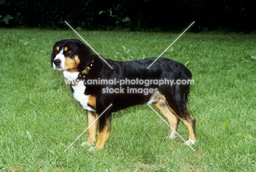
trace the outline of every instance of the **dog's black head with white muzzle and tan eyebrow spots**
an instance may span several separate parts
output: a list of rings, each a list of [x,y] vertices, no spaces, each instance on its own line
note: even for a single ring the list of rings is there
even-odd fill
[[[92,61],[94,53],[78,39],[63,39],[53,46],[51,66],[56,70],[78,72]]]

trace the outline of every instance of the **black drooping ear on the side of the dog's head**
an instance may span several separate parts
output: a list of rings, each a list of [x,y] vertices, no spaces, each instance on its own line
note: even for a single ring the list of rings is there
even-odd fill
[[[82,66],[83,68],[86,68],[94,58],[94,56],[92,55],[95,55],[95,54],[94,52],[92,52],[92,50],[88,46],[86,46],[82,42],[79,43],[78,47],[79,47],[80,66]]]

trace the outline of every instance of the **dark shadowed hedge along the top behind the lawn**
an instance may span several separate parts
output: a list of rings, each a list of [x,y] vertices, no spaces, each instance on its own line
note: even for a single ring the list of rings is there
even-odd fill
[[[253,1],[207,0],[0,0],[0,27],[178,31],[256,30]]]

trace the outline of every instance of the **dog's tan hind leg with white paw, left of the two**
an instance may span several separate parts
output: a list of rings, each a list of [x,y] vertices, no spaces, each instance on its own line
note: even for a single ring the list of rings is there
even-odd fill
[[[177,128],[178,128],[178,124],[179,124],[179,118],[176,117],[173,114],[173,112],[168,108],[164,99],[159,99],[159,101],[155,104],[155,106],[160,110],[162,115],[164,115],[167,118],[168,123],[171,126],[171,130],[170,130],[170,134],[168,135],[168,138],[174,139]]]

